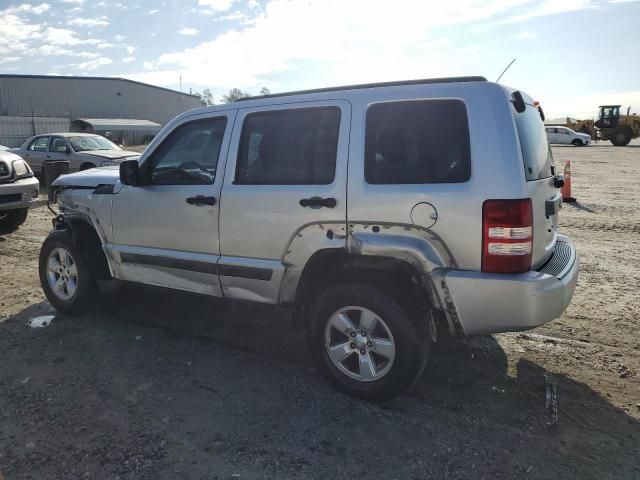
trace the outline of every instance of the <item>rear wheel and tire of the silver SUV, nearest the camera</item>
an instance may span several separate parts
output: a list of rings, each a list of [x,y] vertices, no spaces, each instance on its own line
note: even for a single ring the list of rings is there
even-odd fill
[[[343,283],[321,293],[310,312],[307,341],[333,385],[370,401],[407,390],[427,361],[430,337],[417,309],[376,287]]]

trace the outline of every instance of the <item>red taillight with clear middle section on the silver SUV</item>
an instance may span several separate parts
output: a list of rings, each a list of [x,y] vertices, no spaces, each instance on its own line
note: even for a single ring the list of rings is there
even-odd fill
[[[487,200],[482,206],[482,271],[521,273],[531,268],[531,199]]]

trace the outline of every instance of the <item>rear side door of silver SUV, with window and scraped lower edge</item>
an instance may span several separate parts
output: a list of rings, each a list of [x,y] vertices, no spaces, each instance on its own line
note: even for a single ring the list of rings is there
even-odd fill
[[[285,269],[300,267],[288,254],[312,254],[327,236],[344,245],[329,230],[346,224],[350,117],[346,101],[238,112],[220,214],[225,297],[277,303]]]

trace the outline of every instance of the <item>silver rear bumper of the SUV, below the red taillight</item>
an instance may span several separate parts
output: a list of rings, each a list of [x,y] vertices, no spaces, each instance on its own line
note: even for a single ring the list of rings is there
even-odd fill
[[[445,275],[465,335],[527,330],[558,318],[578,281],[576,249],[558,236],[552,257],[538,271],[498,274],[452,271]]]

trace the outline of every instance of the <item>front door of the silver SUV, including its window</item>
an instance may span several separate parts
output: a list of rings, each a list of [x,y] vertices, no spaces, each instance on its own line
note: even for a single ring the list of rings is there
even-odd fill
[[[113,197],[118,278],[220,295],[218,213],[235,111],[194,115],[141,159],[145,186]]]

